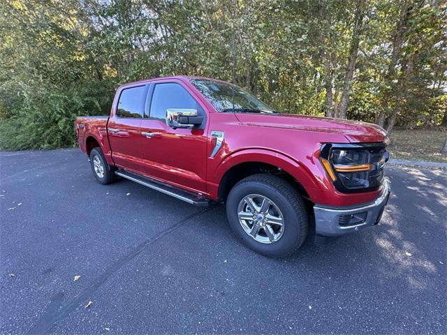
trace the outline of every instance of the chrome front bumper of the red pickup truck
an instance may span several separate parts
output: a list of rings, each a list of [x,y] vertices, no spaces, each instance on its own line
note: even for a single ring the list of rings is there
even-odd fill
[[[325,237],[337,237],[376,225],[381,219],[389,196],[390,185],[385,180],[382,192],[374,202],[356,207],[325,207],[316,204],[314,206],[315,233]],[[349,218],[353,216],[365,217],[365,219],[349,225]]]

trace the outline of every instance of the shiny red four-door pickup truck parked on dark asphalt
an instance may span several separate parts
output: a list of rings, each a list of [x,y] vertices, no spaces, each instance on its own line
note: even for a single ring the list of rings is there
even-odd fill
[[[390,188],[386,132],[358,121],[281,114],[228,82],[163,77],[124,84],[109,117],[78,117],[94,177],[118,177],[205,206],[226,203],[244,244],[272,257],[379,223]]]

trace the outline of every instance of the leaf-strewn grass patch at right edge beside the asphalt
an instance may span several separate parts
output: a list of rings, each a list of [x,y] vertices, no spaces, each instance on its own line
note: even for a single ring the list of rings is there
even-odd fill
[[[388,149],[394,159],[447,163],[447,155],[440,153],[447,131],[393,130]]]

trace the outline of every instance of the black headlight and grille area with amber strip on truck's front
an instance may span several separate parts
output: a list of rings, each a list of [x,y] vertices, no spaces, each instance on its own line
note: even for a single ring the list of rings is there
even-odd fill
[[[383,143],[323,144],[320,159],[337,190],[360,192],[381,185],[388,151]]]

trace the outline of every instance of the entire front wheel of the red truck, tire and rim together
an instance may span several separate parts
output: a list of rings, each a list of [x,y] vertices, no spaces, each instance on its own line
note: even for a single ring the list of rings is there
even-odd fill
[[[226,212],[237,237],[263,255],[291,255],[307,236],[307,212],[300,194],[272,174],[239,181],[228,195]]]

